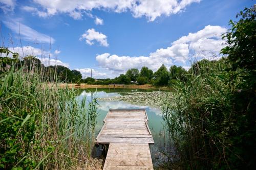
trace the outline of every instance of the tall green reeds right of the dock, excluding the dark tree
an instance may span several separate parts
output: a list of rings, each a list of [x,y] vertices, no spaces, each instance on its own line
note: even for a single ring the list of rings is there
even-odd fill
[[[236,82],[226,59],[202,60],[193,65],[186,81],[178,81],[173,99],[163,103],[163,120],[169,135],[168,168],[230,168],[230,133],[235,128],[231,94]]]

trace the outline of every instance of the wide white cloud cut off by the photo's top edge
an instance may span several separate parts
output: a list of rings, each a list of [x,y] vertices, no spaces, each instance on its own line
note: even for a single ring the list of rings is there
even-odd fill
[[[80,15],[78,15],[77,12],[81,14],[81,11],[103,9],[117,13],[131,11],[134,17],[145,16],[148,21],[154,21],[157,17],[162,15],[169,16],[176,14],[185,10],[188,5],[199,3],[200,1],[201,0],[33,0],[34,3],[42,7],[42,12],[47,13],[48,16],[59,12],[69,13],[73,18],[77,18],[77,16],[79,18]]]

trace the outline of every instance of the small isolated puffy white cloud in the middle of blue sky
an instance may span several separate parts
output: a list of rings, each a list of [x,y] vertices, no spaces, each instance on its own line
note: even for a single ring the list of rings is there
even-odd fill
[[[106,35],[95,31],[94,29],[89,29],[86,33],[82,34],[79,40],[86,39],[86,43],[93,45],[94,41],[99,42],[101,46],[109,46]]]

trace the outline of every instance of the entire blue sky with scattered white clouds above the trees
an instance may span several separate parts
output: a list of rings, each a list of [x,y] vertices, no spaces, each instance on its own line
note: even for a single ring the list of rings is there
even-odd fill
[[[45,65],[114,78],[216,60],[230,19],[252,0],[0,0],[1,46]],[[49,60],[50,56],[50,60]]]

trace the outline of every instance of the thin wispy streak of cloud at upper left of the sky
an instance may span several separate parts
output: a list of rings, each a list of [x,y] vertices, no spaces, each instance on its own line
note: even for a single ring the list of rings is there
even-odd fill
[[[10,20],[10,21],[3,21],[6,27],[11,29],[14,33],[22,35],[22,39],[27,40],[27,41],[32,41],[32,42],[41,42],[41,43],[54,43],[54,38],[46,35],[39,33],[32,28],[24,25],[23,23],[20,23],[17,20]]]

